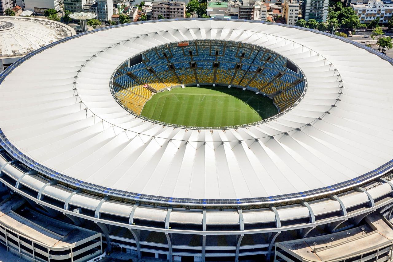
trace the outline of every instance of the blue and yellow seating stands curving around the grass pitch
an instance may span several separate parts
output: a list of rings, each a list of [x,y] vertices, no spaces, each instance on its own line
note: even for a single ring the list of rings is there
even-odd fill
[[[283,111],[301,96],[305,87],[300,70],[294,72],[286,63],[285,57],[252,44],[219,40],[173,42],[143,52],[142,63],[128,67],[126,61],[119,66],[113,77],[113,93],[139,115],[152,95],[143,88],[145,84],[157,91],[180,85],[233,85],[267,95]]]

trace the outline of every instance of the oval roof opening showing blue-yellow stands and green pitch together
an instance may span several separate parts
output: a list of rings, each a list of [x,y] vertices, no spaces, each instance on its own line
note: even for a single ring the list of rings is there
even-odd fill
[[[255,125],[290,110],[305,93],[292,61],[262,46],[222,40],[171,42],[130,57],[110,89],[130,113],[184,128]]]

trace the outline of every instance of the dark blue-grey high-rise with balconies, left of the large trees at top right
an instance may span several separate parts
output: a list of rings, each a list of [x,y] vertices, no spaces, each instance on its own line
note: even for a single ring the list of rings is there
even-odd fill
[[[315,19],[317,22],[326,22],[329,0],[304,0],[302,2],[302,15],[308,21]]]

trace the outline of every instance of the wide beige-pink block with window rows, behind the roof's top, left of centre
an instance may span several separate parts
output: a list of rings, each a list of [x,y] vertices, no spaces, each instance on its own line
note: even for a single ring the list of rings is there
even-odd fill
[[[162,15],[168,18],[185,18],[185,2],[165,1],[152,3],[152,20]]]

